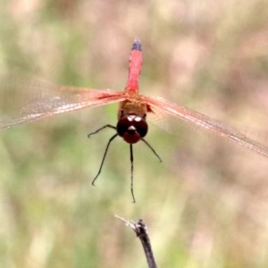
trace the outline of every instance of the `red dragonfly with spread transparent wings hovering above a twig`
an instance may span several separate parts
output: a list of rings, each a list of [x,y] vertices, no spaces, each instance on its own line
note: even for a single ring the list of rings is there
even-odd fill
[[[174,104],[159,96],[139,94],[138,78],[141,65],[141,43],[138,38],[135,38],[130,51],[129,78],[123,91],[33,83],[25,88],[29,96],[34,95],[35,97],[29,98],[26,104],[22,105],[19,110],[17,109],[17,113],[12,111],[2,115],[0,129],[11,128],[29,121],[37,121],[55,114],[72,112],[87,107],[119,103],[117,125],[107,124],[88,134],[88,137],[91,137],[91,135],[106,128],[112,128],[116,131],[105,147],[105,154],[92,184],[95,184],[96,178],[102,171],[105,156],[113,139],[121,137],[130,144],[130,190],[133,202],[135,202],[133,191],[133,145],[139,140],[143,141],[159,161],[162,161],[155,152],[155,149],[145,139],[148,131],[147,114],[163,113],[173,116],[177,120],[187,121],[201,129],[210,130],[222,138],[229,139],[240,147],[246,147],[259,155],[268,157],[268,147],[247,137],[247,135],[222,121],[214,120],[203,113],[198,113],[183,105]],[[6,87],[12,88],[11,84],[12,82],[7,84]],[[19,83],[19,85],[14,85],[14,87],[22,86]]]

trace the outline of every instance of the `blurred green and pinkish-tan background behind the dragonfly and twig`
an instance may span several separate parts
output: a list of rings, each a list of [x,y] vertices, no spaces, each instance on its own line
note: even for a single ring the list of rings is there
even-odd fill
[[[122,90],[138,37],[142,94],[267,140],[267,1],[0,4],[2,72]],[[20,94],[1,102],[15,110]],[[113,131],[87,134],[115,124],[116,112],[108,105],[1,131],[0,267],[147,267],[114,214],[147,222],[159,267],[267,267],[267,159],[161,118],[147,141],[163,163],[143,143],[134,147],[132,204],[129,146],[120,138],[91,186]]]

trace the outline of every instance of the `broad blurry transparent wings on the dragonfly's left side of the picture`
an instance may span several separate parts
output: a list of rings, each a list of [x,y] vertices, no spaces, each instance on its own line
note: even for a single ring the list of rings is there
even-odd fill
[[[124,99],[122,92],[54,86],[38,79],[3,81],[0,96],[0,129]]]

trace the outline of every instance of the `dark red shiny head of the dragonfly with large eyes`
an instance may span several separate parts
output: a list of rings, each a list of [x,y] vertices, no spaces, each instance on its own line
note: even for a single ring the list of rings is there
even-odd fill
[[[136,143],[147,135],[147,121],[135,114],[121,117],[116,126],[117,133],[128,143]]]

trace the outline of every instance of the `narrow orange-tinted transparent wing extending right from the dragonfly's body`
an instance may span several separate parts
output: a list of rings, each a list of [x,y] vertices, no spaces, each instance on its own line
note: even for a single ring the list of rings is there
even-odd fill
[[[182,121],[188,121],[195,124],[197,127],[201,127],[206,130],[214,131],[219,136],[229,138],[239,146],[246,147],[255,151],[259,155],[268,157],[268,147],[255,141],[252,138],[248,138],[239,130],[223,123],[222,121],[216,121],[211,119],[202,113],[197,113],[194,110],[188,109],[182,105],[172,104],[171,102],[161,97],[147,97],[142,96],[142,99],[150,105],[152,110],[160,111],[162,113],[168,113]]]

